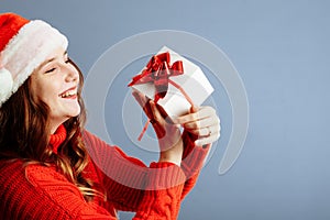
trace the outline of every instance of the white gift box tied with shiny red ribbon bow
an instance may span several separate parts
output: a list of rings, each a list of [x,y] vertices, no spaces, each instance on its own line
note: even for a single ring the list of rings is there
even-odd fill
[[[129,86],[154,99],[170,118],[186,114],[193,103],[200,106],[213,91],[199,66],[166,46]]]

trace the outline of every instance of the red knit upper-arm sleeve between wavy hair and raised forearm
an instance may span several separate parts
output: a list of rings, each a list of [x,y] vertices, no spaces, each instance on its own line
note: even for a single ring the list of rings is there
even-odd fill
[[[84,141],[108,202],[117,210],[136,211],[145,189],[146,166],[88,131]]]

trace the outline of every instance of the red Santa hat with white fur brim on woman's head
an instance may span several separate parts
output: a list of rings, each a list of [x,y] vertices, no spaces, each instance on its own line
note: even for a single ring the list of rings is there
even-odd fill
[[[44,21],[0,14],[0,107],[67,38]]]

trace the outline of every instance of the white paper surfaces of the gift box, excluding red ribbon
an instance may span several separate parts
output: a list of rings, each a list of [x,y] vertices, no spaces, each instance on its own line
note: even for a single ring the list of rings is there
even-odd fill
[[[182,61],[184,67],[183,75],[172,76],[169,79],[184,89],[184,91],[193,100],[194,105],[200,106],[212,94],[213,87],[199,66],[195,65],[193,62],[186,59],[170,48],[163,46],[157,54],[166,52],[170,54],[170,65],[176,61]],[[142,72],[143,69],[139,74]],[[133,89],[144,94],[150,99],[155,98],[156,89],[153,82],[135,84],[132,87]],[[188,113],[191,107],[183,92],[170,82],[168,82],[166,96],[160,99],[157,103],[164,108],[170,118]]]

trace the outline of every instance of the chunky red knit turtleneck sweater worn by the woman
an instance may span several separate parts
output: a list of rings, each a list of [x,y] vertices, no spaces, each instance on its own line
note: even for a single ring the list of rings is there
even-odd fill
[[[194,187],[208,148],[195,147],[184,132],[184,161],[152,163],[127,156],[119,147],[84,132],[90,162],[84,170],[107,199],[87,202],[79,189],[55,166],[23,166],[0,161],[0,219],[117,219],[117,210],[136,212],[133,219],[176,219],[180,201]],[[66,138],[64,127],[51,136],[54,152]]]

